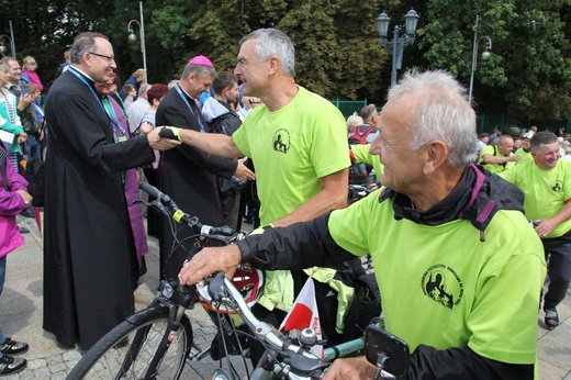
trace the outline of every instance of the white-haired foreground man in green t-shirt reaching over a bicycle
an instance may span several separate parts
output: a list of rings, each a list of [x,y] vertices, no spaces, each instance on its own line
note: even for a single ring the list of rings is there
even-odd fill
[[[306,268],[370,253],[385,328],[408,344],[412,378],[534,378],[541,242],[522,191],[471,164],[475,113],[466,89],[440,70],[407,72],[378,125],[371,153],[384,165],[381,189],[313,221],[206,248],[181,282],[243,260]],[[337,359],[323,379],[374,373],[363,357]]]

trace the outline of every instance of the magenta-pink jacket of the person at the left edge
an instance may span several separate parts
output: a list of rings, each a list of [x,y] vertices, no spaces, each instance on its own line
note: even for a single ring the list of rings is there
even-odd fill
[[[15,223],[15,215],[24,210],[24,200],[15,190],[27,190],[27,181],[14,171],[8,159],[5,177],[2,178],[0,172],[0,257],[4,257],[24,244],[24,238]],[[9,191],[4,190],[4,180],[8,180]]]

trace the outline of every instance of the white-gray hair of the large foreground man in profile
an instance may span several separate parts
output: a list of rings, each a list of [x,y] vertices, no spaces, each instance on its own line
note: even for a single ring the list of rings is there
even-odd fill
[[[389,101],[417,94],[416,123],[408,125],[408,146],[419,149],[430,141],[448,146],[448,164],[452,168],[468,166],[477,159],[475,112],[468,103],[463,88],[449,72],[407,71],[389,90]]]

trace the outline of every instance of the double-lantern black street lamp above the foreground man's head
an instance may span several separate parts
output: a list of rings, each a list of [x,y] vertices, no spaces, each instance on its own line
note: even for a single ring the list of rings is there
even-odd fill
[[[384,11],[377,18],[377,26],[379,27],[379,44],[384,47],[389,53],[392,54],[392,71],[391,71],[391,87],[396,85],[396,70],[401,69],[403,62],[404,48],[414,43],[416,33],[416,23],[418,22],[419,15],[414,9],[406,13],[404,16],[405,22],[405,34],[400,36],[401,29],[403,25],[395,25],[393,30],[393,40],[389,41],[389,23],[391,18],[384,13]]]

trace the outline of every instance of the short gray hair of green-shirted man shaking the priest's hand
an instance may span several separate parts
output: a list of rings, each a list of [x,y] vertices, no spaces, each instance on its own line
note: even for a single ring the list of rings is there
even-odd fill
[[[295,48],[286,33],[277,29],[258,29],[244,36],[239,45],[248,40],[257,40],[254,52],[259,60],[266,62],[276,56],[280,60],[281,71],[288,77],[295,77]]]

